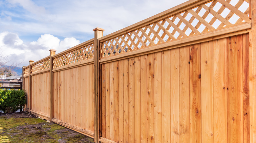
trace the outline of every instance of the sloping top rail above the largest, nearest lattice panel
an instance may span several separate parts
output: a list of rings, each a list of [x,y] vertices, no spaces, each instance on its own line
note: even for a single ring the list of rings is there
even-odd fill
[[[114,33],[106,35],[106,36],[104,36],[102,38],[99,38],[99,40],[100,41],[106,41],[106,40],[112,39],[112,38],[117,37],[119,35],[123,35],[125,33],[129,33],[129,32],[131,32],[133,30],[139,29],[140,27],[144,27],[144,26],[146,26],[148,24],[155,23],[155,22],[157,22],[157,21],[159,21],[161,19],[173,16],[173,15],[175,15],[177,13],[181,13],[181,12],[183,12],[183,11],[189,9],[189,8],[194,8],[196,6],[199,6],[199,5],[203,4],[203,3],[210,2],[210,1],[212,1],[212,0],[189,0],[189,1],[184,2],[184,3],[182,3],[182,4],[180,4],[180,5],[176,6],[176,7],[170,8],[170,9],[165,10],[165,11],[163,11],[163,12],[157,14],[157,15],[154,15],[152,17],[149,17],[149,18],[145,19],[145,20],[142,20],[142,21],[140,21],[140,22],[138,22],[136,24],[132,24],[132,25],[126,27],[126,28],[123,28],[123,29],[118,30],[118,31],[116,31]]]

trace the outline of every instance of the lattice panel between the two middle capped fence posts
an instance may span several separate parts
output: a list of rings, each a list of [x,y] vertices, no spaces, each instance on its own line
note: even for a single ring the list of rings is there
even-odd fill
[[[70,51],[64,55],[53,58],[53,69],[93,59],[93,52],[93,43],[90,43],[86,46],[79,47],[78,49]]]

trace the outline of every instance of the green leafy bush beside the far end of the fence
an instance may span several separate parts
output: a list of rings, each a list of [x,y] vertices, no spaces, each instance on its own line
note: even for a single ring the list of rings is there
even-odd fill
[[[4,113],[13,113],[26,104],[24,90],[0,89],[0,110]]]

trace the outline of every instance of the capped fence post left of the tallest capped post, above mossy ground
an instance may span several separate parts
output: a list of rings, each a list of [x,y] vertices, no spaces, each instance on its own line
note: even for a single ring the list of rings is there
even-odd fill
[[[50,122],[52,122],[52,118],[53,118],[53,72],[52,72],[52,69],[53,69],[53,58],[52,56],[55,55],[55,52],[56,50],[49,50],[50,51],[50,72],[49,72],[49,82],[50,82],[50,101],[49,101],[49,104],[50,104]]]

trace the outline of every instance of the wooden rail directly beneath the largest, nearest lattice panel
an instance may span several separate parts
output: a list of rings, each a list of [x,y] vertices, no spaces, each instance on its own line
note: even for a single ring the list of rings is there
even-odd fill
[[[192,43],[193,44],[201,43],[204,41],[210,41],[210,40],[220,39],[220,38],[229,37],[233,35],[244,34],[244,33],[250,32],[250,28],[251,28],[251,21],[248,21],[242,24],[226,26],[226,28],[224,27],[216,30],[211,30],[205,33],[195,34],[193,36],[185,37],[179,40],[172,40],[163,44],[150,46],[149,48],[139,49],[136,51],[127,52],[117,56],[103,58],[103,59],[100,59],[99,62],[102,64],[110,61],[148,54],[149,52],[153,53],[153,51],[155,52],[155,51],[173,49],[173,48],[181,47],[184,45],[189,45]]]

